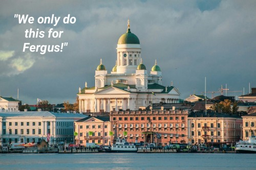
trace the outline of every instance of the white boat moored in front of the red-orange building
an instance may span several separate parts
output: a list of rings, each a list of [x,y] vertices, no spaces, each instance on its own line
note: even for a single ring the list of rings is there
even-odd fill
[[[137,152],[137,146],[136,143],[129,143],[126,141],[126,139],[116,139],[116,144],[113,144],[111,147],[106,148],[106,152]]]

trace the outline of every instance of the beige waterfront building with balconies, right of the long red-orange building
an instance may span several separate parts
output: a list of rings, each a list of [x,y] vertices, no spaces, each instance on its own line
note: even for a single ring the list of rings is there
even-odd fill
[[[191,144],[235,143],[241,139],[242,118],[216,112],[191,112],[188,115],[188,141]]]

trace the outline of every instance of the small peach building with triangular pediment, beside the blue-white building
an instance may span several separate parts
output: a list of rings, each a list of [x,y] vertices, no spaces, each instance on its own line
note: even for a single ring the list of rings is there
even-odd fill
[[[86,146],[86,143],[98,143],[109,145],[110,140],[110,117],[89,116],[75,122],[76,143]]]

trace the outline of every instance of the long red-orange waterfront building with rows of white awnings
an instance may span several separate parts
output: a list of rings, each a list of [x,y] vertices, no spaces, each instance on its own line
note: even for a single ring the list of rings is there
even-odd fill
[[[187,143],[187,110],[112,111],[112,131],[115,137],[128,142],[166,145]]]

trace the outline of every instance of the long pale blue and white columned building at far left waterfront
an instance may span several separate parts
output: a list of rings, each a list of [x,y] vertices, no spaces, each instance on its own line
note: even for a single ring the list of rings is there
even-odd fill
[[[74,122],[84,117],[87,115],[48,111],[0,112],[0,144],[47,141],[47,136],[51,144],[72,142]]]

